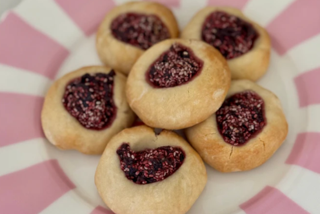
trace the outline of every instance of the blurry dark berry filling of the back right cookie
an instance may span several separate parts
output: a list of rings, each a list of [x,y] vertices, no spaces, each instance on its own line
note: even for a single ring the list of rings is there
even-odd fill
[[[221,11],[211,13],[202,27],[202,40],[217,48],[226,59],[247,53],[258,37],[250,23]]]

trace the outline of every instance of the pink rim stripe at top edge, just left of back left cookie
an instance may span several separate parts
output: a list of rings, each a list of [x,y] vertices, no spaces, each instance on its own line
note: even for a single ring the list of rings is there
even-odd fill
[[[115,3],[113,0],[55,0],[84,33],[94,33]]]

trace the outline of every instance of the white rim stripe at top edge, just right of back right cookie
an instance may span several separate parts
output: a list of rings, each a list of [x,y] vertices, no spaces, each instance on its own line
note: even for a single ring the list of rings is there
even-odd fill
[[[267,26],[294,0],[251,0],[244,7],[244,14],[262,26]]]

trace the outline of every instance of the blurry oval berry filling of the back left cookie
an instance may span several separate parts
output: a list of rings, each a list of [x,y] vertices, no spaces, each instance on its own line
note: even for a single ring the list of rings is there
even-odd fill
[[[143,50],[170,38],[168,28],[155,15],[121,14],[112,21],[111,31],[116,39]]]

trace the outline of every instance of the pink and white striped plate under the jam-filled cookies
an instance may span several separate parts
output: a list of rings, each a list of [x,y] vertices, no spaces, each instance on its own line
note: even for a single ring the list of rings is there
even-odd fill
[[[94,185],[98,156],[55,149],[40,110],[53,80],[100,64],[98,24],[125,0],[24,0],[0,23],[0,213],[112,213]],[[290,132],[263,166],[222,174],[188,214],[320,213],[320,1],[161,0],[182,28],[206,5],[232,5],[265,26],[271,65],[259,84],[281,99]]]

